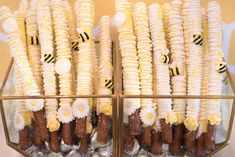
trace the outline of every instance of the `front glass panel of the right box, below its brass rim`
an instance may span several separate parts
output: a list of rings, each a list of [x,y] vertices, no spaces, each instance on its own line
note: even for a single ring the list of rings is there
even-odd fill
[[[209,149],[215,146],[215,149],[217,149],[220,144],[226,142],[231,131],[229,129],[230,125],[232,125],[230,124],[230,118],[233,99],[188,100],[187,102],[194,102],[195,104],[197,102],[200,104],[202,101],[207,102],[205,103],[207,109],[203,113],[203,109],[200,110],[199,108],[198,110],[196,105],[192,105],[188,108],[188,115],[191,115],[188,117],[191,119],[188,118],[187,120],[184,116],[185,105],[183,104],[186,99],[174,99],[172,103],[177,103],[178,105],[174,106],[173,110],[171,110],[171,99],[153,99],[153,102],[157,102],[156,110],[153,108],[146,109],[148,107],[143,105],[143,99],[141,101],[139,98],[124,98],[122,100],[123,112],[121,116],[123,117],[123,125],[121,129],[123,131],[123,147],[121,150],[123,156],[176,155],[193,157],[195,154],[190,152],[194,152],[195,149],[201,152],[199,149],[201,147],[199,146],[203,145],[204,142],[207,143],[207,146],[202,148],[205,149],[207,147]],[[151,99],[145,98],[145,100]],[[211,125],[205,123],[208,122],[208,119],[211,122],[219,122],[219,119],[212,114],[213,111],[208,112],[209,101],[212,102],[213,111],[216,111],[216,104],[213,108],[213,103],[219,102],[221,104],[221,122],[219,125],[212,126],[212,123],[209,123]],[[138,103],[141,104],[141,108],[138,109],[137,107],[136,109],[135,106],[138,106],[136,105]],[[159,104],[164,104],[165,106]],[[157,117],[154,122],[152,122],[152,119],[155,117],[152,113],[156,113]],[[211,115],[210,118],[208,115]],[[198,118],[194,118],[195,116]],[[207,117],[206,120],[203,120],[204,116]],[[148,123],[149,125],[147,125]],[[213,136],[213,133],[215,133],[215,136]],[[210,137],[215,140],[208,140],[211,139]]]

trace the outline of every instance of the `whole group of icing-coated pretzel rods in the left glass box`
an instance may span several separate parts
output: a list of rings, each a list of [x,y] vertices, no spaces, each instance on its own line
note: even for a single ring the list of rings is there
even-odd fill
[[[77,0],[74,10],[66,0],[22,0],[15,14],[1,7],[1,24],[15,60],[17,95],[112,94],[111,18],[100,19],[96,49],[94,2]],[[105,152],[99,148],[110,147],[111,116],[111,98],[18,100],[14,124],[23,150],[45,145],[53,153],[86,155],[91,147],[99,153]],[[90,146],[92,142],[99,145]]]

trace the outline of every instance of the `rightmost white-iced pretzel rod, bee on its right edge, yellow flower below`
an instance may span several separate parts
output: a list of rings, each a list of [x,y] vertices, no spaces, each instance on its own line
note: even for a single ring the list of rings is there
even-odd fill
[[[217,1],[211,1],[207,7],[208,42],[210,51],[210,74],[208,95],[221,95],[224,73],[227,70],[223,54],[222,15]],[[221,100],[209,100],[208,125],[205,146],[208,151],[215,149],[216,126],[221,122]]]

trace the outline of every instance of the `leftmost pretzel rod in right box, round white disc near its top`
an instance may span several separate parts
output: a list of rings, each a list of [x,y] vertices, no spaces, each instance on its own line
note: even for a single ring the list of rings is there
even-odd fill
[[[115,26],[122,57],[124,94],[141,94],[136,37],[133,30],[130,3],[127,0],[116,0]],[[134,136],[141,133],[140,99],[124,99],[124,123],[128,124],[129,133],[133,138],[125,138],[124,150],[129,152],[134,146]]]

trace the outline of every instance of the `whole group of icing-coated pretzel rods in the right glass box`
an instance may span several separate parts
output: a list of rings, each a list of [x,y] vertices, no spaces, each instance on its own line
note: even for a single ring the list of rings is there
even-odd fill
[[[116,0],[115,7],[124,94],[222,94],[226,63],[217,1],[207,9],[198,0],[149,7]],[[181,155],[184,149],[205,156],[215,149],[220,105],[220,100],[126,98],[125,154],[137,154],[138,141],[142,150],[154,155]]]

